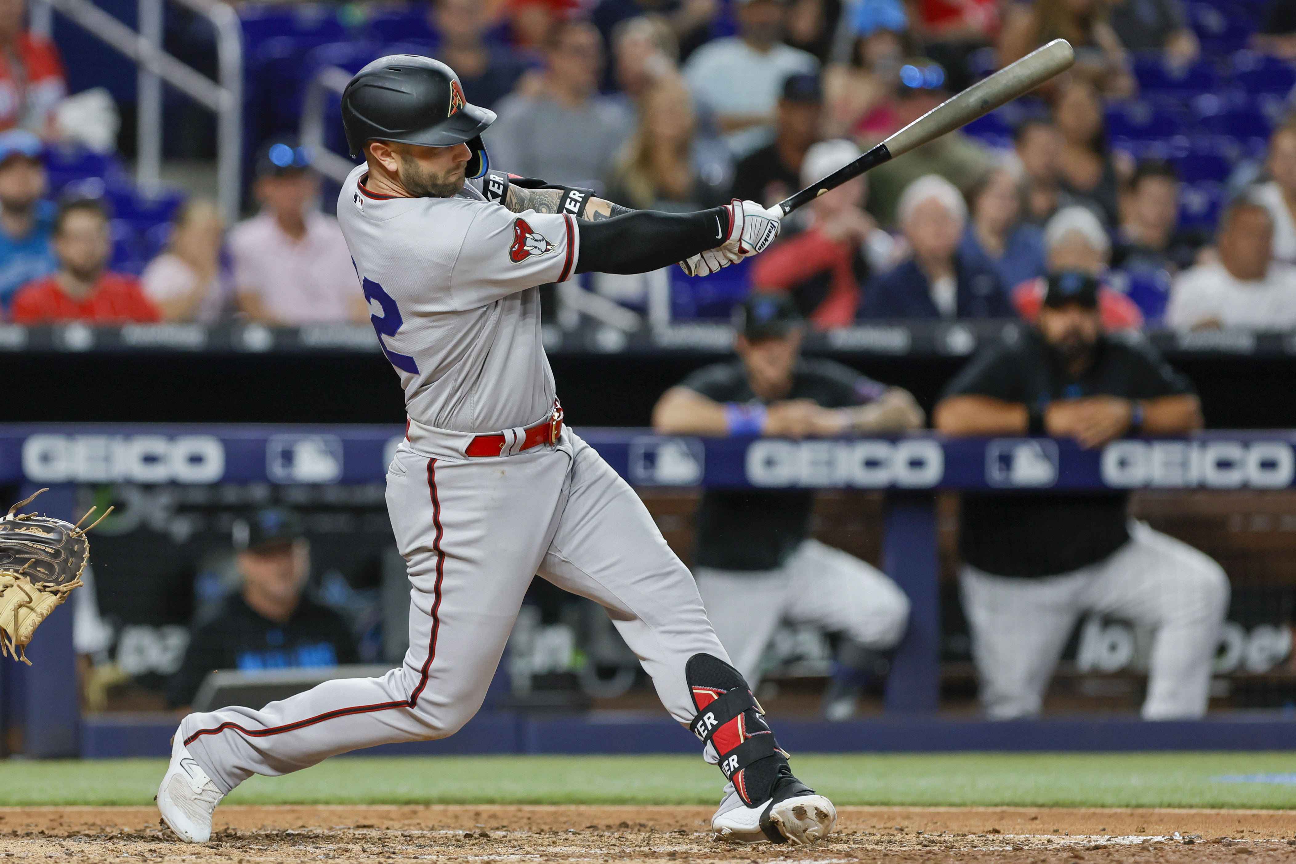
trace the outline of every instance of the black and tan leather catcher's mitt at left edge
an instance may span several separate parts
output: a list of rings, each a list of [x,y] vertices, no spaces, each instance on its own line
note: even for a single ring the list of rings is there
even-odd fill
[[[89,562],[86,531],[98,525],[96,519],[82,529],[80,522],[71,525],[49,516],[14,513],[36,495],[14,504],[0,519],[0,655],[8,654],[27,666],[31,661],[26,646],[36,627],[82,584],[80,574]]]

